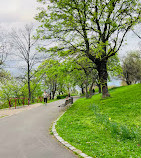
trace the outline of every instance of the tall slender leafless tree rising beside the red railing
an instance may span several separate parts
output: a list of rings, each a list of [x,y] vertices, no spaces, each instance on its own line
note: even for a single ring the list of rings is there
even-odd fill
[[[31,100],[31,72],[33,66],[36,64],[36,51],[35,45],[37,44],[38,39],[33,38],[34,27],[33,25],[25,25],[24,29],[19,31],[13,30],[10,33],[11,44],[13,45],[15,55],[20,57],[23,61],[26,62],[26,74],[27,74],[27,83],[28,83],[28,98]]]

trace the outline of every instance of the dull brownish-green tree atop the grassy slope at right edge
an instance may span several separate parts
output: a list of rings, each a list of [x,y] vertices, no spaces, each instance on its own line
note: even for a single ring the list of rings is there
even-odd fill
[[[123,78],[128,85],[141,82],[141,53],[130,52],[123,60]]]

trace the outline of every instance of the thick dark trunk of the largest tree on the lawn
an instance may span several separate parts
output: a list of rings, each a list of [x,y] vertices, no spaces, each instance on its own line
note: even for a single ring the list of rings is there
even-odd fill
[[[97,71],[98,71],[98,77],[99,81],[102,87],[102,97],[109,97],[110,94],[108,92],[108,86],[107,86],[107,79],[108,79],[108,72],[107,72],[107,61],[100,61],[97,64]]]

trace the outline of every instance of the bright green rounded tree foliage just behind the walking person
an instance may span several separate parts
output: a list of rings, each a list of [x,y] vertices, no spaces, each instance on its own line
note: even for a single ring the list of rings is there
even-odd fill
[[[67,82],[66,67],[59,63],[58,60],[48,59],[45,60],[39,67],[38,78],[42,78],[45,89],[49,92],[64,92],[63,85]],[[66,81],[66,82],[65,82]]]

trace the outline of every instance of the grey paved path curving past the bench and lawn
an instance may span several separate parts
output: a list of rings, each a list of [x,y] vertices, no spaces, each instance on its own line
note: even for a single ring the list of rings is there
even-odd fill
[[[0,158],[76,158],[49,134],[64,100],[0,119]]]

